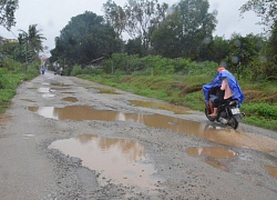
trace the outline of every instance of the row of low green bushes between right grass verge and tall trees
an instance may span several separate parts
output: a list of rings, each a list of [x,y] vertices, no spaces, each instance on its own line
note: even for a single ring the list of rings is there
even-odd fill
[[[140,58],[137,54],[114,53],[103,63],[104,71],[114,73],[122,71],[124,74],[214,74],[218,64],[215,62],[192,62],[187,59],[168,59],[161,56]]]

